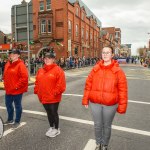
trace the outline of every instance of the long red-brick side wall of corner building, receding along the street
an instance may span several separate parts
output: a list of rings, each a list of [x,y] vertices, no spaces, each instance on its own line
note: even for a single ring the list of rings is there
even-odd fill
[[[78,12],[78,13],[77,13]],[[99,56],[99,35],[100,28],[93,17],[87,17],[84,7],[76,2],[74,5],[68,3],[68,23],[71,22],[71,50],[69,53],[75,55],[75,48],[78,48],[80,57]],[[69,25],[69,24],[68,24]],[[77,35],[78,26],[78,35]],[[69,33],[68,33],[69,34]]]

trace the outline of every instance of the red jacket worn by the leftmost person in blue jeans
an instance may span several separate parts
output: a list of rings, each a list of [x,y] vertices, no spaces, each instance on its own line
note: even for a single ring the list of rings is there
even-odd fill
[[[6,94],[17,95],[27,92],[28,71],[21,59],[6,63],[3,79]]]

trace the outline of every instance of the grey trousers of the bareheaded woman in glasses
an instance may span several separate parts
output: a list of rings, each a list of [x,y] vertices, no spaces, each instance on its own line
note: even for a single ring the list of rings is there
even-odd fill
[[[94,120],[96,144],[108,145],[111,136],[111,126],[118,104],[105,106],[90,103]]]

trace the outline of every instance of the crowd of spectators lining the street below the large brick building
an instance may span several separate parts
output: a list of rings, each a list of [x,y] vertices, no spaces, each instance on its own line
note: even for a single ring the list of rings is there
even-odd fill
[[[29,63],[28,63],[28,59],[23,59],[24,63],[26,65],[26,67],[28,67]],[[4,60],[0,60],[0,75],[2,77],[3,75],[3,71],[4,71],[4,67],[5,67],[5,63],[6,63],[7,59]],[[68,70],[68,69],[75,69],[75,68],[81,68],[81,67],[86,67],[86,66],[92,66],[95,65],[95,63],[99,61],[99,58],[90,58],[90,57],[74,57],[74,56],[70,56],[70,57],[62,57],[60,59],[57,60],[57,64],[63,68],[64,70]],[[39,68],[41,68],[43,66],[44,62],[43,62],[43,58],[39,57],[39,58],[32,58],[30,60],[30,73],[32,75],[35,75],[37,70]]]

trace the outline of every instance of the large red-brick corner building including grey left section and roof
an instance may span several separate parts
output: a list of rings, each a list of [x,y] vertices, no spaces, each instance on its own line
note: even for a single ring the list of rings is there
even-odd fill
[[[16,13],[12,13],[14,43],[25,49],[29,40],[32,57],[47,47],[53,47],[58,58],[100,54],[101,22],[81,0],[32,0],[29,4],[23,0],[12,12]]]

